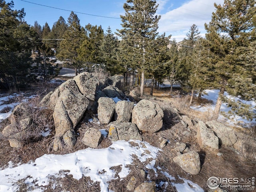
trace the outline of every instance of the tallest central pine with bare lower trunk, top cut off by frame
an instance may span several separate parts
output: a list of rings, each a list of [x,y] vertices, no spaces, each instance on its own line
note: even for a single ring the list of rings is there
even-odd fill
[[[122,40],[132,43],[134,54],[138,56],[139,69],[142,76],[140,95],[144,92],[144,72],[150,60],[150,41],[154,41],[157,36],[158,21],[160,16],[156,15],[158,5],[156,0],[127,0],[124,4],[125,15],[122,19],[123,29],[118,30],[118,35]]]

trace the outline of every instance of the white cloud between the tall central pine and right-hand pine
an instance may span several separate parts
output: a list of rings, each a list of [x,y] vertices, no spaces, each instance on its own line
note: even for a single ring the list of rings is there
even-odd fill
[[[174,10],[161,14],[158,32],[171,34],[172,38],[176,38],[179,42],[186,37],[190,26],[196,24],[201,34],[204,34],[204,24],[210,22],[212,12],[215,11],[214,2],[223,4],[224,0],[191,0]]]

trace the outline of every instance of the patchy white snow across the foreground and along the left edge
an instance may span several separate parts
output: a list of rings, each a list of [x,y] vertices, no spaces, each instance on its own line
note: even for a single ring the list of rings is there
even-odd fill
[[[0,114],[1,120],[7,118],[13,108],[19,104],[18,102],[12,104],[4,103],[17,96],[19,95],[12,94],[7,96],[0,94],[0,110],[7,107],[10,108],[10,112]],[[113,100],[118,102],[118,98],[113,98]],[[106,136],[106,130],[100,131],[102,135]],[[134,146],[130,142],[135,142],[138,146]],[[150,154],[148,151],[150,151]],[[108,189],[108,182],[113,179],[122,180],[122,178],[125,178],[130,173],[131,170],[127,165],[132,164],[134,155],[141,162],[146,162],[149,158],[152,159],[146,165],[147,170],[153,169],[154,172],[158,170],[170,180],[176,180],[168,172],[162,170],[159,166],[155,166],[159,151],[161,151],[159,148],[151,146],[147,142],[138,140],[126,142],[122,140],[113,142],[111,146],[104,149],[86,148],[65,155],[44,154],[34,162],[31,161],[26,164],[13,164],[9,162],[8,167],[0,168],[0,192],[18,191],[19,186],[17,183],[21,180],[30,186],[30,191],[43,192],[51,182],[52,176],[59,178],[64,177],[66,174],[72,174],[73,178],[77,180],[82,178],[82,176],[89,176],[93,182],[100,182],[102,192],[113,192]],[[118,173],[120,178],[116,178],[115,170],[110,168],[119,165],[121,165],[122,170]],[[150,177],[148,179],[150,180]],[[175,186],[178,192],[204,191],[197,184],[183,178],[180,179],[184,182],[171,182],[172,186]],[[170,183],[162,181],[157,185],[167,188]],[[54,189],[54,185],[52,188]]]

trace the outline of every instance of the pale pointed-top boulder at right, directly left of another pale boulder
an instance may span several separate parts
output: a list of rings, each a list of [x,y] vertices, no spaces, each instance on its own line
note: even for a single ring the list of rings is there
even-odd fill
[[[202,121],[198,121],[197,126],[197,140],[200,147],[218,149],[219,139],[214,132]]]

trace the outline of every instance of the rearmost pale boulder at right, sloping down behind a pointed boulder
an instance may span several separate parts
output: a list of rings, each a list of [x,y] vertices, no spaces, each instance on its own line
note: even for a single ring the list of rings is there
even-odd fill
[[[236,142],[237,138],[234,129],[214,120],[206,122],[206,125],[219,138],[220,145],[232,146]]]

